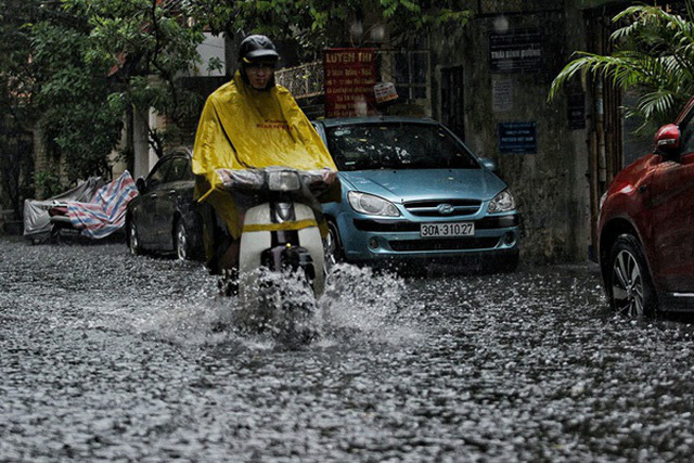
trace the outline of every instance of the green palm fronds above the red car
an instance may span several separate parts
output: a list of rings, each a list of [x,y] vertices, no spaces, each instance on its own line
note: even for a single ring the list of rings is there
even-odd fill
[[[686,0],[686,16],[694,17],[694,1]],[[611,55],[578,52],[554,78],[549,99],[556,97],[577,74],[605,78],[624,90],[635,90],[639,100],[627,108],[627,117],[660,125],[674,119],[683,103],[694,94],[694,24],[659,7],[630,7],[613,22]]]

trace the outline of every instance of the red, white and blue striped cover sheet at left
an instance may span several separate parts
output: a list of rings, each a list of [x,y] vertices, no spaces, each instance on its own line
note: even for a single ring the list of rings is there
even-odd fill
[[[67,203],[67,217],[73,228],[85,236],[108,236],[125,223],[126,207],[138,195],[134,181],[127,170],[97,191],[90,203]]]

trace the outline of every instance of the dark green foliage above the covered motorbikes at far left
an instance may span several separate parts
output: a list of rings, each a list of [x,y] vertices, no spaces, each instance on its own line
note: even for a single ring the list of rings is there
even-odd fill
[[[86,60],[88,33],[79,18],[31,26],[39,125],[68,183],[92,175],[107,177],[108,154],[120,139],[123,115],[107,104],[105,63]]]

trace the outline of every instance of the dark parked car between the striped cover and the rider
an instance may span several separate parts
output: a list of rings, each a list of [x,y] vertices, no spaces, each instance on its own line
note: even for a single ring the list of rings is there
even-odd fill
[[[137,180],[140,195],[128,204],[126,235],[130,252],[202,257],[201,221],[193,203],[191,151],[178,149],[159,159],[146,179]]]

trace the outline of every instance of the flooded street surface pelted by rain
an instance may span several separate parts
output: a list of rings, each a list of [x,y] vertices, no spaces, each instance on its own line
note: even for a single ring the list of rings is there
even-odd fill
[[[197,263],[0,239],[0,461],[690,461],[694,329],[590,266],[340,268],[319,340],[241,332]]]

